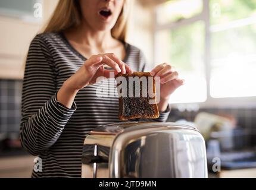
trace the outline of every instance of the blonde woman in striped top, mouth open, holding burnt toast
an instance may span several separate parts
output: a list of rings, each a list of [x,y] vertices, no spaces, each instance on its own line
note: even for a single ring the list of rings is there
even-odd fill
[[[95,80],[110,77],[105,66],[115,73],[145,70],[141,50],[124,41],[129,2],[62,0],[45,31],[33,39],[20,128],[23,147],[42,159],[42,170],[34,170],[32,177],[80,177],[86,134],[120,122],[117,97],[96,97]],[[154,121],[164,122],[168,98],[183,81],[168,64],[156,66],[151,75],[161,77],[160,118]]]

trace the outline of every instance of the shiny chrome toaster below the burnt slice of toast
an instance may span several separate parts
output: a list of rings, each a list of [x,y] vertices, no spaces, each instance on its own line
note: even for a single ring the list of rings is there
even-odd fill
[[[99,126],[85,138],[82,178],[207,178],[205,141],[176,123]]]

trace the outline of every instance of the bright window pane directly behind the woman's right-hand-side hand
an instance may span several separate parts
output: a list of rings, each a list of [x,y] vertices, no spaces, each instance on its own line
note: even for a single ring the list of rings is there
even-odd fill
[[[207,97],[204,67],[204,23],[198,21],[156,34],[155,59],[179,71],[185,85],[176,90],[170,103],[204,102]]]

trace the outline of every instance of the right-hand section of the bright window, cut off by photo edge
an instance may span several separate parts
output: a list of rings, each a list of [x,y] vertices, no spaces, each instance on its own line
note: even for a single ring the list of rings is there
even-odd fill
[[[256,1],[211,0],[212,97],[256,96]]]

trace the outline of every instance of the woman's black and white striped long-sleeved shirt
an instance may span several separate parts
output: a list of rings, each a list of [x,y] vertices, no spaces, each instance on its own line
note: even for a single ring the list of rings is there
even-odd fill
[[[124,43],[126,62],[133,71],[145,69],[145,58],[137,47]],[[80,178],[82,148],[86,134],[96,126],[121,122],[118,97],[110,79],[89,85],[77,93],[71,109],[57,101],[57,91],[86,61],[62,33],[38,34],[30,44],[23,81],[21,144],[42,160],[42,171],[32,178]],[[168,108],[169,109],[169,108]],[[169,111],[154,121],[166,121]],[[38,172],[36,172],[38,171]]]

